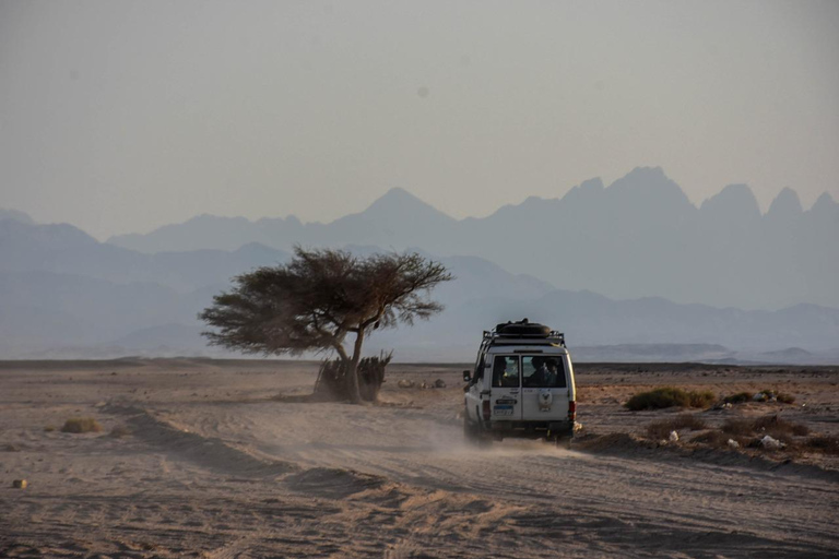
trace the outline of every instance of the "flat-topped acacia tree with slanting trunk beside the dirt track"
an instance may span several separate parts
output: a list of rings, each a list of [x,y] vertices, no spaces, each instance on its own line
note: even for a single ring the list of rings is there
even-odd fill
[[[346,367],[350,397],[361,402],[362,346],[378,328],[413,324],[442,310],[430,290],[452,280],[416,253],[354,257],[343,250],[296,247],[287,264],[237,276],[199,318],[216,330],[210,344],[251,354],[334,350]],[[345,347],[347,334],[352,349]]]

